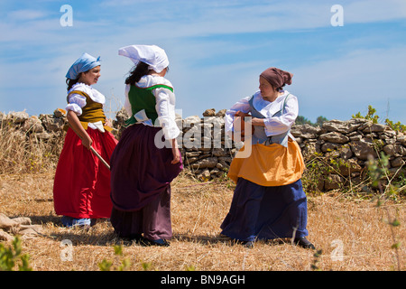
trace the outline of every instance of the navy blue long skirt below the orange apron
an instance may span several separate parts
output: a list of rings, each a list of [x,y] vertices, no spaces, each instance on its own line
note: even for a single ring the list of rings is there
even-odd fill
[[[264,187],[239,178],[221,234],[240,241],[308,236],[308,205],[301,181]]]

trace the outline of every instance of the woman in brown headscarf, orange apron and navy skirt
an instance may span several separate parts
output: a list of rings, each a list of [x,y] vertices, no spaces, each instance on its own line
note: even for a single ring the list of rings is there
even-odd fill
[[[292,74],[277,68],[261,73],[259,90],[226,112],[226,133],[245,140],[228,176],[236,183],[222,234],[253,247],[258,239],[292,238],[314,248],[306,236],[307,198],[301,185],[304,170],[300,147],[291,135],[298,117],[298,99],[283,87]],[[238,134],[235,116],[252,117],[252,135]]]

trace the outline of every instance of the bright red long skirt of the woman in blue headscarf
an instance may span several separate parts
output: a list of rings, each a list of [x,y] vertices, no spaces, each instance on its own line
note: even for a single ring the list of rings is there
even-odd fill
[[[93,148],[107,163],[117,140],[109,132],[88,128]],[[65,137],[53,185],[54,209],[58,215],[77,219],[110,218],[110,171],[83,146],[71,128]]]

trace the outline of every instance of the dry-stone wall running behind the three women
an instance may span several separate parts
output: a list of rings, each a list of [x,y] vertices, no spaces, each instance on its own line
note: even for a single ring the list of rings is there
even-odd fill
[[[200,181],[226,177],[233,156],[241,146],[225,135],[225,113],[225,109],[219,112],[208,109],[202,117],[177,118],[182,132],[178,142],[183,163]],[[124,110],[116,115],[114,134],[117,139],[124,129],[126,118]],[[39,117],[30,117],[25,112],[0,113],[0,123],[13,124],[27,138],[49,142],[52,137],[60,137],[66,116],[59,109],[51,115]],[[390,156],[391,177],[402,176],[406,161],[406,135],[393,131],[389,126],[353,118],[330,120],[322,127],[295,125],[291,134],[299,143],[307,164],[305,175],[308,173],[309,182],[315,182],[314,187],[319,191],[362,183],[366,178],[368,157],[377,158],[381,153]]]

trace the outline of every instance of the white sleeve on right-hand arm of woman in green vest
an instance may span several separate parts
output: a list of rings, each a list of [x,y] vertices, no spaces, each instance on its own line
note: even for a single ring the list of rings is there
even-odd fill
[[[156,112],[166,140],[174,139],[180,134],[175,122],[175,94],[170,89],[153,89],[156,98]]]

